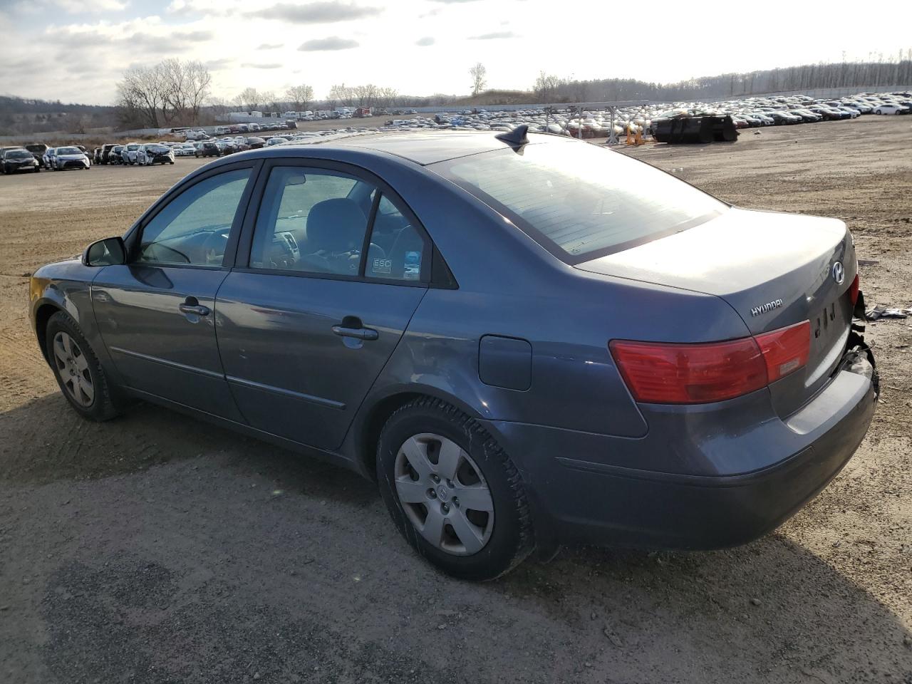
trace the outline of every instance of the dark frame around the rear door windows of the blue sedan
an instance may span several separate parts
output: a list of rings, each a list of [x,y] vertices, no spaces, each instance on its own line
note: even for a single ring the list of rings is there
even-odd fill
[[[289,269],[272,269],[272,268],[253,268],[250,265],[250,255],[254,244],[254,230],[256,228],[256,218],[260,213],[260,208],[264,200],[266,184],[269,181],[269,175],[275,167],[299,166],[317,171],[337,171],[345,173],[358,181],[363,181],[373,185],[379,192],[377,198],[371,205],[371,214],[368,216],[368,227],[365,232],[365,239],[369,240],[374,230],[374,219],[376,218],[375,206],[379,205],[379,199],[382,195],[389,195],[389,200],[397,205],[399,210],[409,220],[410,225],[418,231],[424,242],[424,250],[421,254],[421,277],[420,280],[399,280],[396,278],[373,278],[364,275],[365,264],[367,263],[367,253],[362,249],[361,264],[358,265],[358,275],[328,274],[310,271],[292,271]],[[403,285],[406,287],[432,287],[438,286],[434,280],[433,259],[432,255],[436,246],[430,239],[430,234],[425,230],[424,225],[418,220],[418,216],[409,207],[408,202],[402,199],[398,192],[393,190],[388,182],[381,179],[377,174],[364,169],[355,164],[342,161],[319,159],[315,157],[271,157],[264,161],[264,165],[256,179],[254,195],[247,204],[247,212],[244,215],[244,224],[241,229],[240,238],[237,244],[235,254],[235,263],[233,271],[240,273],[265,274],[265,275],[290,275],[302,278],[317,278],[321,280],[342,280],[356,283],[377,283],[379,285]],[[427,264],[427,268],[423,267]]]

